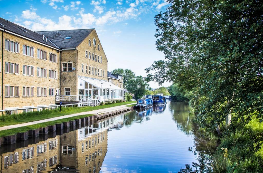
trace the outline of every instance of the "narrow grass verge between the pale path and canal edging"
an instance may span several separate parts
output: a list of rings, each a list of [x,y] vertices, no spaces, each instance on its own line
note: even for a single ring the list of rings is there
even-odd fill
[[[38,128],[41,128],[41,127],[47,127],[49,125],[60,124],[60,123],[63,123],[63,122],[67,122],[67,121],[75,120],[75,119],[80,119],[80,118],[85,118],[85,117],[88,117],[88,116],[92,116],[92,114],[78,115],[78,116],[73,116],[73,117],[70,117],[70,118],[64,118],[64,119],[55,120],[55,121],[48,121],[48,122],[45,122],[45,123],[39,123],[39,124],[23,126],[23,127],[14,128],[14,129],[2,130],[2,131],[0,131],[0,137],[14,135],[14,134],[17,134],[19,132],[23,133],[23,132],[26,132],[28,130],[38,129]]]

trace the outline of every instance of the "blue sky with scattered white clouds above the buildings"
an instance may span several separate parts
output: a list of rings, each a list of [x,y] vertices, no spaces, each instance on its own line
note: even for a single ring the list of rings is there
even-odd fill
[[[145,68],[164,59],[156,50],[154,16],[168,5],[164,0],[0,0],[0,15],[33,31],[95,28],[109,71],[129,68],[145,77]]]

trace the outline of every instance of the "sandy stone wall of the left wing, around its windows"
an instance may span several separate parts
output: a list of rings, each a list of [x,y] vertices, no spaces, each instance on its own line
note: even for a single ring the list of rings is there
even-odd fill
[[[13,42],[19,43],[19,53],[14,53],[5,50],[5,39],[11,40]],[[34,48],[34,57],[23,55],[23,45],[27,45]],[[43,50],[47,53],[47,60],[37,58],[37,49]],[[54,95],[56,89],[60,89],[60,76],[59,76],[59,57],[60,52],[56,49],[49,48],[42,44],[38,44],[27,39],[5,33],[4,32],[4,44],[3,44],[3,69],[1,73],[3,74],[3,93],[1,94],[3,99],[3,109],[23,106],[39,106],[39,105],[50,105],[55,104],[55,96],[49,96],[49,88],[54,88]],[[57,55],[57,63],[49,61],[49,53]],[[2,54],[1,54],[2,56]],[[19,64],[19,74],[12,74],[5,72],[5,62]],[[34,67],[34,75],[27,76],[23,75],[23,65],[30,65]],[[10,66],[9,66],[10,67]],[[46,77],[37,77],[37,68],[46,69]],[[57,71],[57,79],[49,78],[49,70]],[[5,86],[18,86],[19,95],[17,97],[5,96]],[[23,96],[23,86],[33,87],[34,96]],[[37,96],[37,87],[45,87],[46,96]],[[2,91],[2,90],[1,90]]]

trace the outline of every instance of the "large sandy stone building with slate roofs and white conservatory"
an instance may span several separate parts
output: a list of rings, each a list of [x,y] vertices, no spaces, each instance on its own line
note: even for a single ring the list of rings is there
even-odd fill
[[[34,32],[0,18],[0,40],[0,109],[123,99],[95,29]]]

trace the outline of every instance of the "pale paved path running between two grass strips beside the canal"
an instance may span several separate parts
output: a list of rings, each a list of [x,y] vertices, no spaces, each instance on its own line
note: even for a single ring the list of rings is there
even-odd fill
[[[132,105],[132,104],[134,104],[134,103],[127,104],[127,105]],[[114,107],[110,107],[110,108],[103,108],[103,109],[98,109],[98,110],[80,112],[80,113],[75,113],[75,114],[70,114],[70,115],[63,115],[63,116],[58,116],[58,117],[49,118],[49,119],[44,119],[44,120],[39,120],[39,121],[32,121],[32,122],[28,122],[28,123],[22,123],[22,124],[15,124],[15,125],[3,126],[3,127],[0,127],[0,131],[1,131],[1,130],[7,130],[7,129],[14,129],[14,128],[23,127],[23,126],[28,126],[28,125],[33,125],[33,124],[45,123],[45,122],[48,122],[48,121],[55,121],[55,120],[59,120],[59,119],[63,119],[63,118],[69,118],[69,117],[78,116],[78,115],[104,114],[104,113],[112,112],[112,111],[115,111],[115,110],[120,110],[120,109],[127,108],[127,107],[126,107],[127,105],[114,106]]]

